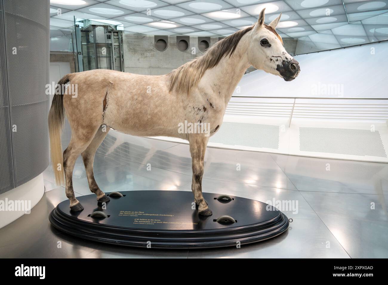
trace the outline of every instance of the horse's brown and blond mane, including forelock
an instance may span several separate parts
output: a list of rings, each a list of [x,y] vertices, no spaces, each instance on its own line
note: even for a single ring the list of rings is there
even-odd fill
[[[283,43],[281,36],[279,36],[274,28],[267,24],[264,24],[264,26],[277,35]],[[208,48],[206,53],[201,57],[197,57],[168,73],[167,76],[170,78],[170,92],[176,87],[178,92],[189,93],[190,89],[198,84],[207,69],[215,67],[224,56],[229,55],[230,57],[234,53],[242,36],[251,31],[253,27],[255,26],[250,26],[223,38]]]

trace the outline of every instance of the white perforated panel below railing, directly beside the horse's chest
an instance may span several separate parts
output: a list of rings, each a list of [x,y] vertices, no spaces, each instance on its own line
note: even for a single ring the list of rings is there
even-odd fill
[[[223,122],[209,142],[279,149],[279,129],[276,125]]]

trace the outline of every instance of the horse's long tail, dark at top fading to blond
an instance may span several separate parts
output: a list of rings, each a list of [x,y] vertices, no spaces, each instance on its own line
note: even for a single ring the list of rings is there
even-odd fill
[[[58,81],[58,85],[70,81],[71,74],[67,74]],[[55,92],[49,112],[50,152],[52,169],[54,170],[55,182],[57,185],[64,185],[63,155],[62,155],[62,126],[64,123],[64,107],[62,88]]]

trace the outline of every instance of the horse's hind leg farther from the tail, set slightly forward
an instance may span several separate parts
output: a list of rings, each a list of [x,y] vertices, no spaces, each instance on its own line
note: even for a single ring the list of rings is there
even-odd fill
[[[99,202],[109,202],[110,199],[108,196],[105,195],[104,192],[101,191],[101,189],[98,187],[94,179],[94,174],[93,174],[94,155],[99,145],[102,143],[102,141],[104,140],[104,138],[106,137],[106,134],[110,129],[111,128],[109,126],[101,126],[97,130],[97,133],[95,134],[92,142],[90,142],[90,144],[88,145],[87,149],[85,149],[81,153],[83,164],[85,164],[86,175],[88,177],[90,191],[92,191],[97,195],[97,200]]]

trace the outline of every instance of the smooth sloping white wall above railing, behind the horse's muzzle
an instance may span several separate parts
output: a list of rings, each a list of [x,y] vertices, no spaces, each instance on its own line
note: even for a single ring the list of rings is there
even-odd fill
[[[388,97],[388,41],[296,55],[298,78],[291,82],[257,70],[242,77],[236,96],[267,97]],[[342,85],[343,94],[317,94],[320,85]],[[322,89],[322,88],[321,88]]]

